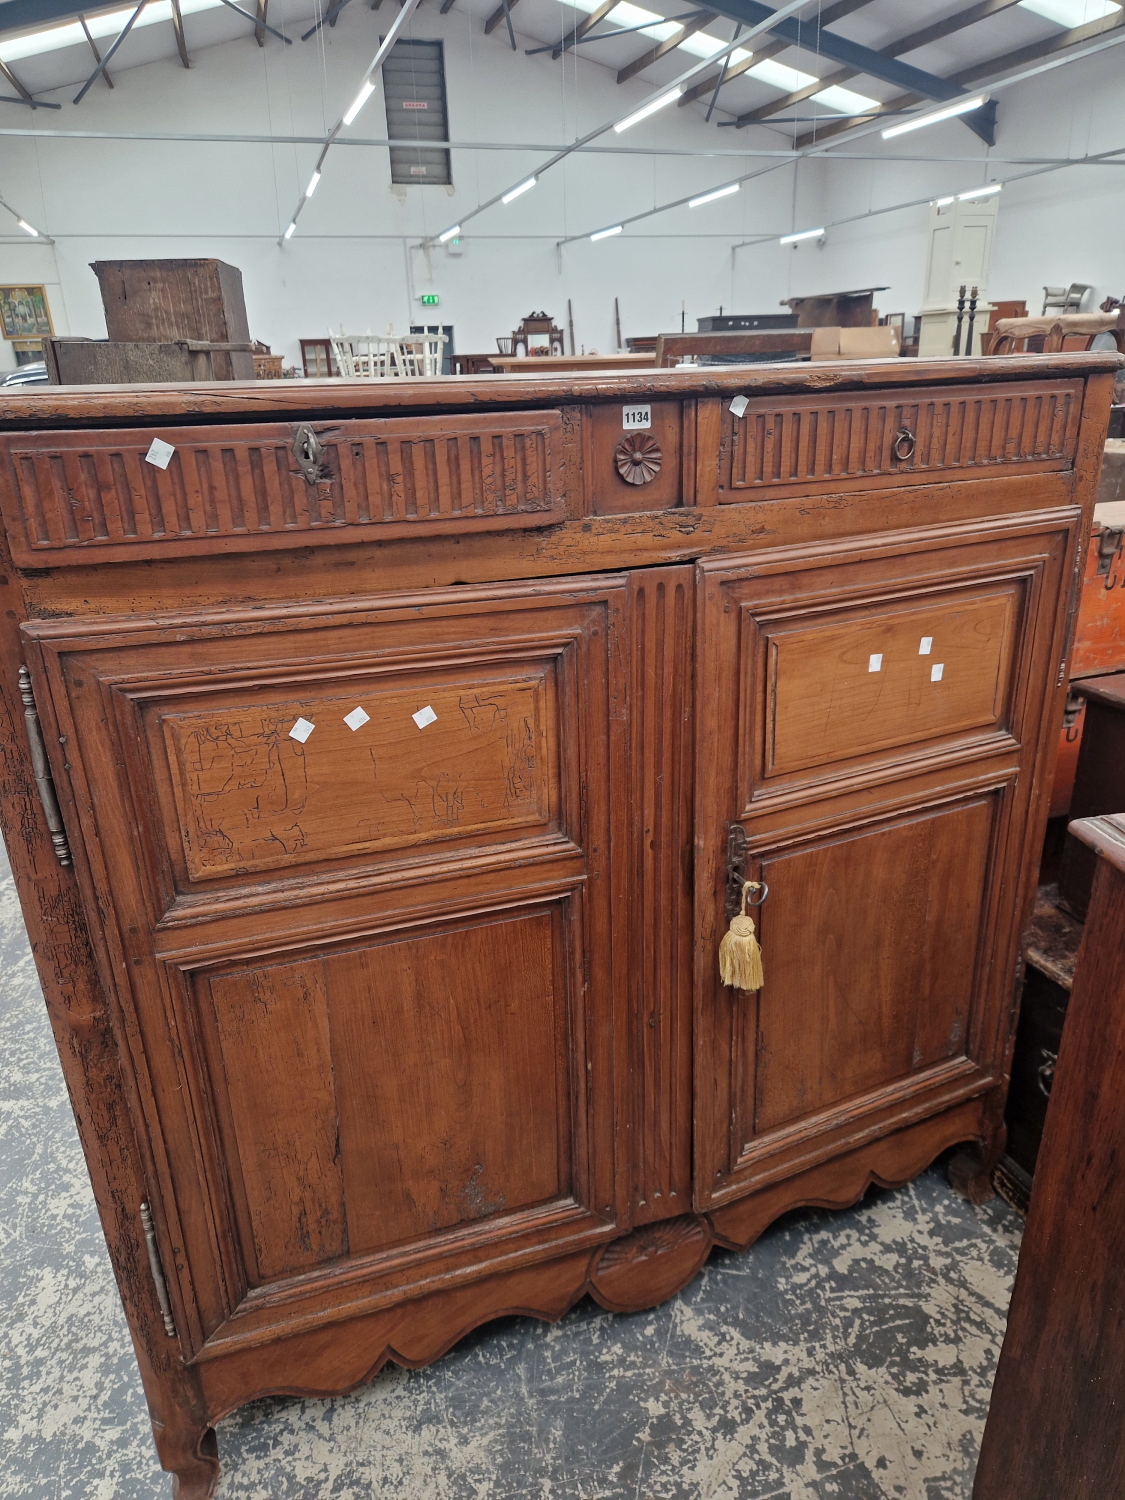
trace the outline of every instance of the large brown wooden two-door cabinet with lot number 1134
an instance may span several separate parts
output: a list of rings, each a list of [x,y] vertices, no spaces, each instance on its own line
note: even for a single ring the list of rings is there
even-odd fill
[[[182,1496],[256,1395],[987,1191],[1114,366],[0,406],[0,818]]]

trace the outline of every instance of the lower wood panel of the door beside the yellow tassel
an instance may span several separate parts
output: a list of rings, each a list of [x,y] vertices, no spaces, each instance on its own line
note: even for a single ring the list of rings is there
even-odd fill
[[[993,814],[976,798],[762,855],[770,988],[738,1035],[742,1150],[964,1054]]]

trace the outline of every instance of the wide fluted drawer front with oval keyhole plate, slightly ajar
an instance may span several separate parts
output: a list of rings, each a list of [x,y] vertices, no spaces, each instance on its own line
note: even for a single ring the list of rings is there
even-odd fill
[[[146,458],[153,438],[172,447],[165,468]],[[4,446],[20,566],[549,526],[567,492],[561,411],[26,432]]]

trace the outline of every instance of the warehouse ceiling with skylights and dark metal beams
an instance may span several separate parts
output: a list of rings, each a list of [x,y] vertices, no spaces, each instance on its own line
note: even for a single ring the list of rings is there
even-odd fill
[[[128,90],[132,68],[158,58],[188,66],[222,42],[312,46],[318,22],[326,36],[370,54],[396,10],[396,0],[326,0],[315,12],[309,0],[146,0],[86,10],[72,0],[0,0],[0,123],[50,110],[62,128],[60,116],[81,111],[93,88]],[[513,92],[520,78],[542,78],[526,54],[558,69],[580,57],[632,84],[622,108],[638,84],[658,92],[771,14],[758,0],[663,0],[658,8],[657,0],[422,0],[411,34],[426,36],[428,14],[438,10],[464,15],[474,48],[512,52]],[[812,0],[777,30],[759,32],[748,51],[705,69],[678,105],[708,117],[729,144],[752,129],[804,147],[873,114],[906,117],[956,102],[1005,70],[1122,27],[1116,0]],[[986,105],[962,116],[966,130],[990,141],[993,111]],[[456,122],[452,129],[456,135]]]

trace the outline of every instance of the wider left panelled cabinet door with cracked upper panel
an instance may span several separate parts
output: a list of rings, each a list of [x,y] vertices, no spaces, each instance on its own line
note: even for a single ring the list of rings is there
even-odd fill
[[[189,1350],[614,1233],[624,594],[27,627]]]

